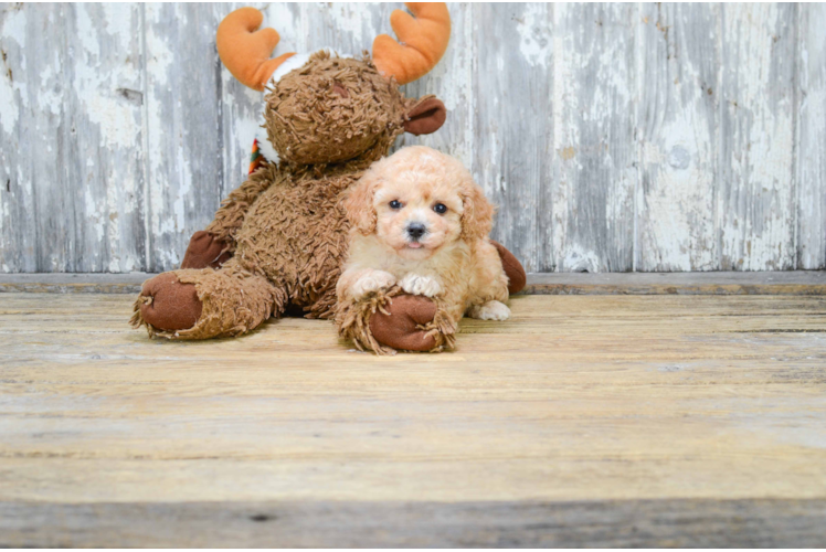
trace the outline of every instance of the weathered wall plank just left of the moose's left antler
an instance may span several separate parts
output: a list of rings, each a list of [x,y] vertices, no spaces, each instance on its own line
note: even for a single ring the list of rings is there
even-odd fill
[[[211,4],[147,3],[148,269],[177,267],[222,192],[221,66]]]

